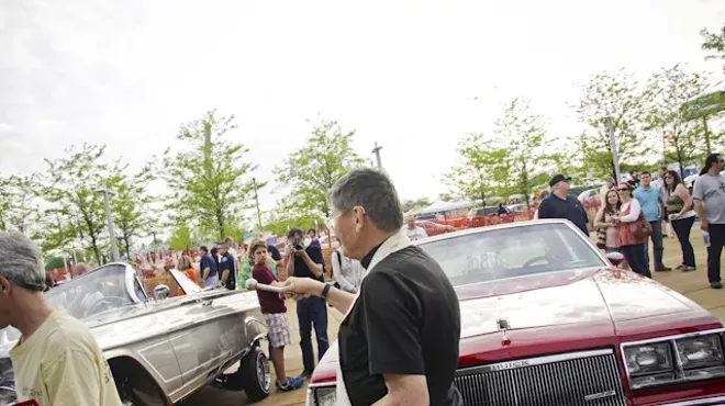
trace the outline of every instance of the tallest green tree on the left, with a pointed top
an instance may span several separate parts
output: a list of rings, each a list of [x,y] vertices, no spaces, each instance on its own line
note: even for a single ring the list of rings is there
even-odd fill
[[[212,110],[179,129],[177,139],[187,150],[164,154],[161,177],[172,191],[167,207],[174,211],[174,224],[197,223],[220,239],[250,207],[254,185],[247,178],[257,168],[247,157],[249,149],[227,140],[226,133],[236,128],[233,121],[234,115],[217,117]]]

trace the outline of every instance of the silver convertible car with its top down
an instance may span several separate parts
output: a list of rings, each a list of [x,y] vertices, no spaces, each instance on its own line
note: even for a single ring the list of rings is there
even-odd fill
[[[185,295],[168,297],[156,286],[150,298],[125,263],[111,263],[46,293],[91,329],[103,349],[124,405],[176,404],[207,384],[269,395],[270,374],[259,340],[267,328],[254,292],[202,290],[171,271]],[[20,332],[0,330],[0,405],[14,402],[8,351]],[[233,374],[224,371],[241,362]]]

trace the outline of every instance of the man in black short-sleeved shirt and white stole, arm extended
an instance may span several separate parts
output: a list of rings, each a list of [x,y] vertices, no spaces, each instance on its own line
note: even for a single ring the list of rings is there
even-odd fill
[[[345,314],[339,327],[337,405],[462,404],[458,298],[438,263],[402,229],[398,193],[382,172],[358,169],[330,192],[331,230],[346,257],[366,268],[353,295],[311,278],[289,278],[288,292],[326,298]],[[430,294],[435,292],[435,294]]]

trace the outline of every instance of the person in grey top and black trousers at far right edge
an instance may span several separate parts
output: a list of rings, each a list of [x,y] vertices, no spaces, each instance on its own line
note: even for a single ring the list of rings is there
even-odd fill
[[[725,160],[720,154],[707,156],[692,191],[700,228],[710,233],[707,279],[712,289],[723,287],[720,258],[725,245],[725,177],[721,176],[724,167]]]

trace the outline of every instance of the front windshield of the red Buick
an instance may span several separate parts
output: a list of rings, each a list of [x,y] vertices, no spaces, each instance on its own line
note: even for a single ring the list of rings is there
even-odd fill
[[[438,261],[454,286],[606,266],[578,233],[566,224],[539,223],[483,228],[420,247]]]

